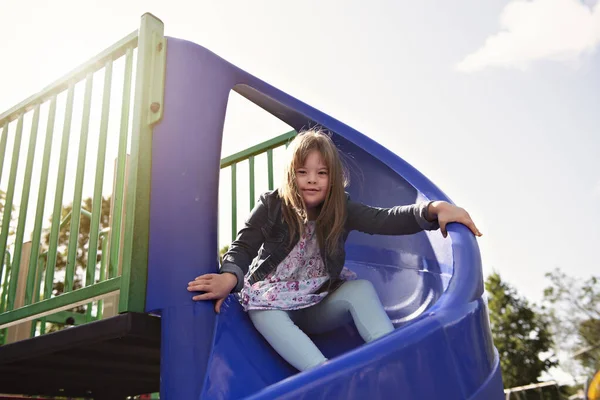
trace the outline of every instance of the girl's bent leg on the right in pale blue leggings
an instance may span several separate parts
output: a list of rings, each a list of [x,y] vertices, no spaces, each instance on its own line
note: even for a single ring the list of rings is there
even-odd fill
[[[294,321],[308,333],[322,333],[349,322],[350,316],[365,342],[394,330],[371,282],[348,281],[314,307],[294,311]]]

